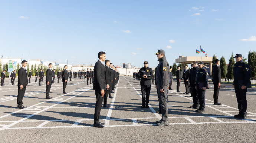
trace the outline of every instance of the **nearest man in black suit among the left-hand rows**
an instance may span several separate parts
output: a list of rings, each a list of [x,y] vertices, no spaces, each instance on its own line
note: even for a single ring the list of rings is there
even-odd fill
[[[24,109],[26,106],[23,106],[23,97],[27,88],[27,61],[22,61],[22,67],[18,71],[18,96],[17,96],[17,104],[19,109]]]

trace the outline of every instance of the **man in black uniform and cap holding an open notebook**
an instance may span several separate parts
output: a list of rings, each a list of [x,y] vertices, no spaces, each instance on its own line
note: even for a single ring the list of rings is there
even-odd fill
[[[142,67],[138,76],[141,77],[141,96],[142,96],[142,106],[141,108],[149,108],[149,96],[151,90],[151,79],[153,76],[153,70],[148,67],[148,61],[144,61],[144,67]],[[146,94],[146,96],[145,96]]]

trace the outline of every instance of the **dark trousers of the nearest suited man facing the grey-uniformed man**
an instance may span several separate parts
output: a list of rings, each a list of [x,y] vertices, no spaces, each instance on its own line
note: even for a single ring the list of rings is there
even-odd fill
[[[101,113],[101,106],[104,97],[101,97],[101,90],[95,90],[96,104],[94,109],[94,124],[99,123],[99,114]]]

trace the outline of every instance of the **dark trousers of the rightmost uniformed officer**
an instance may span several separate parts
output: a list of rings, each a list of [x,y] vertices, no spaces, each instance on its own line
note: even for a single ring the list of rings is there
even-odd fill
[[[246,115],[246,109],[247,109],[247,100],[246,100],[246,92],[247,92],[247,88],[246,89],[240,89],[239,86],[234,86],[235,87],[235,93],[236,93],[236,100],[238,103],[238,109],[239,112],[242,115]]]

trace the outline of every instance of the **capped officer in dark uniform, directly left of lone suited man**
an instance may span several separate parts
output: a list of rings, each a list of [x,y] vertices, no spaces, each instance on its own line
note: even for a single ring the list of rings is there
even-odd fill
[[[205,92],[208,84],[208,72],[204,69],[204,62],[198,62],[199,70],[196,74],[196,90],[199,99],[199,109],[196,110],[198,113],[203,113],[205,108]],[[203,83],[203,87],[199,86],[200,83]]]

